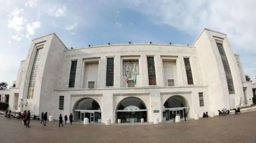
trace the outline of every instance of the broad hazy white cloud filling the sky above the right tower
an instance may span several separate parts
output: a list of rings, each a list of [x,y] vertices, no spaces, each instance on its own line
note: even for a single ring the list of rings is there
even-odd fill
[[[116,3],[110,1],[109,5]],[[249,59],[246,53],[256,54],[256,0],[120,0],[116,5],[140,12],[154,24],[169,25],[194,37],[204,27],[227,33],[234,52],[244,53],[241,59],[245,73],[256,75],[256,63],[245,60]]]

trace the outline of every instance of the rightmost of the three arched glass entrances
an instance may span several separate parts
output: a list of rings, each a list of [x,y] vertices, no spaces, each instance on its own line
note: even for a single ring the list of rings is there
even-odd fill
[[[180,119],[184,119],[184,113],[188,117],[189,105],[181,96],[169,97],[163,105],[163,121],[173,120],[172,115],[180,115]]]

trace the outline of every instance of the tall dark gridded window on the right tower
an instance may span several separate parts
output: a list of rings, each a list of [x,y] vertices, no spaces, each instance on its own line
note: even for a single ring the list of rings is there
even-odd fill
[[[221,43],[216,43],[219,49],[219,54],[221,55],[222,64],[226,73],[227,85],[229,88],[229,94],[235,94],[235,88],[233,83],[233,78],[231,75],[229,61],[227,60],[227,56],[224,50],[224,47]]]

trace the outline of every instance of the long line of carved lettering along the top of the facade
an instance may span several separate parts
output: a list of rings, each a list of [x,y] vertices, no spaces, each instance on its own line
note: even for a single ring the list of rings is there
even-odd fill
[[[71,58],[75,56],[114,54],[114,53],[173,53],[173,52],[174,51],[171,51],[171,50],[120,50],[120,51],[91,52],[91,53],[82,53],[77,55],[68,55],[66,56],[66,58]]]

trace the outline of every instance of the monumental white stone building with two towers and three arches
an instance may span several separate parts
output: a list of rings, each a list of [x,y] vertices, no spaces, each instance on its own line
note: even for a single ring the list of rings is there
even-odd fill
[[[33,114],[74,114],[90,122],[160,122],[251,104],[255,84],[245,81],[239,55],[226,34],[203,29],[192,46],[127,43],[68,49],[53,33],[32,40],[21,61],[9,108]],[[254,90],[255,92],[255,90]],[[255,96],[255,95],[254,95]],[[27,105],[20,105],[21,100]]]

